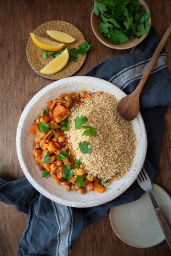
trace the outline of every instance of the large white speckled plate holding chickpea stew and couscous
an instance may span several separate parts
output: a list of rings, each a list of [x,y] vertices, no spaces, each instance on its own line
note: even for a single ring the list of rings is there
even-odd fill
[[[141,114],[132,121],[133,131],[136,135],[137,147],[131,169],[120,180],[111,182],[104,193],[95,191],[80,195],[78,192],[65,192],[63,186],[56,186],[51,177],[42,178],[38,166],[32,156],[32,141],[34,136],[30,135],[28,129],[32,121],[36,119],[40,111],[46,107],[47,100],[54,99],[61,92],[80,91],[86,89],[88,92],[104,91],[113,94],[117,99],[125,96],[124,92],[105,80],[90,76],[73,76],[64,78],[49,84],[40,90],[26,105],[17,128],[17,153],[19,163],[28,181],[47,198],[62,205],[73,207],[91,207],[111,201],[123,193],[136,180],[137,175],[144,164],[146,155],[146,131]]]

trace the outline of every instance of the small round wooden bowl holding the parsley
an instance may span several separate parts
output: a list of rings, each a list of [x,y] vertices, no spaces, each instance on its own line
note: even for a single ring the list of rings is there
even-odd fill
[[[146,13],[150,13],[148,5],[143,0],[140,0],[139,2],[141,5],[144,6]],[[146,37],[146,35],[142,35],[140,39],[133,38],[130,41],[125,42],[125,43],[120,43],[118,45],[113,44],[113,43],[109,42],[109,39],[105,38],[103,36],[103,34],[100,33],[99,30],[97,30],[99,21],[100,21],[100,16],[97,16],[97,15],[91,13],[91,27],[92,27],[93,33],[95,34],[96,38],[99,39],[99,41],[101,43],[103,43],[105,46],[108,46],[110,48],[119,49],[119,50],[129,49],[129,48],[132,48],[132,47],[136,46],[137,44],[141,43],[144,40],[144,38]],[[149,18],[148,22],[151,23],[151,18]]]

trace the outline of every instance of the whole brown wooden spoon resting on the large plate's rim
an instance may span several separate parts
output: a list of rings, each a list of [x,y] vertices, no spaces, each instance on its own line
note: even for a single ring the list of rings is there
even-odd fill
[[[143,86],[148,79],[148,76],[150,72],[152,71],[152,68],[154,64],[156,63],[156,60],[158,58],[158,55],[160,54],[162,47],[164,47],[164,44],[166,40],[168,39],[171,32],[171,23],[166,30],[164,36],[162,36],[162,39],[160,43],[158,44],[156,51],[154,52],[152,59],[150,60],[148,66],[146,67],[146,70],[140,80],[140,83],[136,87],[135,91],[132,92],[132,94],[129,94],[128,96],[123,97],[117,104],[117,112],[120,114],[123,119],[131,121],[136,118],[136,116],[139,113],[140,110],[140,93],[143,89]]]

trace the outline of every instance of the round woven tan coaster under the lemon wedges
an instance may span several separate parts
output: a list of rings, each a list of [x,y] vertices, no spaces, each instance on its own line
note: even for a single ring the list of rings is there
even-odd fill
[[[76,42],[66,44],[67,48],[78,48],[79,44],[83,43],[85,40],[82,32],[77,27],[66,21],[48,21],[37,27],[34,30],[34,33],[39,36],[51,39],[50,36],[47,35],[46,30],[58,30],[66,32],[67,34],[76,38]],[[26,53],[27,60],[31,68],[38,75],[42,76],[43,78],[51,80],[58,80],[74,75],[80,69],[80,67],[82,67],[84,61],[86,60],[86,54],[79,54],[78,60],[76,62],[69,60],[67,66],[64,67],[63,70],[59,71],[58,73],[54,75],[42,75],[39,71],[42,70],[42,68],[53,59],[52,56],[48,55],[47,59],[43,59],[42,49],[37,47],[32,42],[31,38],[28,39]]]

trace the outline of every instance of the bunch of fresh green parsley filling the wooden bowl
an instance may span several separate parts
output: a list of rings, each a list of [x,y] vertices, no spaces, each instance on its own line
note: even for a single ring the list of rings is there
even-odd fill
[[[93,0],[92,12],[101,17],[97,29],[113,44],[148,34],[150,13],[139,0]]]

